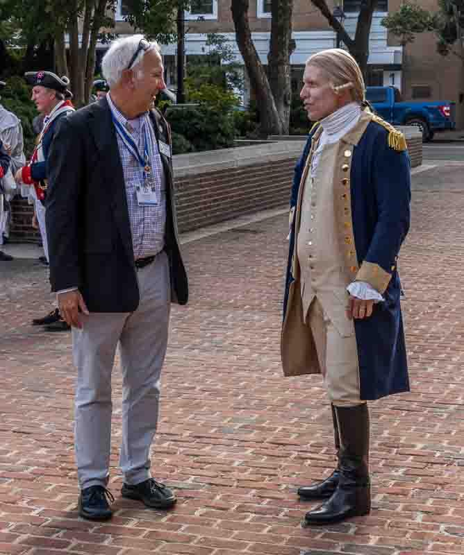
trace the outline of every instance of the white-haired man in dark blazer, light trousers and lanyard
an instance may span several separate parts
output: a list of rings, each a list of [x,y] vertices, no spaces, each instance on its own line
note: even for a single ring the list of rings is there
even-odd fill
[[[170,303],[188,284],[179,251],[169,126],[154,96],[165,87],[158,45],[140,35],[103,58],[108,95],[60,125],[49,156],[50,278],[73,327],[79,513],[106,519],[111,372],[123,375],[122,495],[167,509],[176,495],[150,472]]]

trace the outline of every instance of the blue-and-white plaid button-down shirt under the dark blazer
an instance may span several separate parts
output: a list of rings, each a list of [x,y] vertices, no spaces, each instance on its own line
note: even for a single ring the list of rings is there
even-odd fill
[[[126,184],[127,207],[129,208],[129,220],[131,221],[132,244],[134,258],[144,258],[156,255],[165,246],[165,225],[166,225],[166,180],[161,162],[158,142],[154,133],[149,114],[143,114],[137,119],[128,120],[116,108],[111,101],[110,94],[106,95],[113,117],[131,133],[131,136],[138,145],[139,152],[144,151],[144,124],[149,131],[149,158],[151,171],[156,182],[156,193],[160,198],[160,203],[156,206],[139,206],[135,187],[143,185],[143,168],[140,162],[126,147],[124,141],[116,132],[119,155],[121,157],[124,182]]]

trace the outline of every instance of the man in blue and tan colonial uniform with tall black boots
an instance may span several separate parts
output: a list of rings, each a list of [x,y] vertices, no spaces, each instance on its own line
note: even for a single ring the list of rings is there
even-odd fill
[[[409,391],[399,248],[410,221],[410,163],[399,131],[367,108],[349,53],[309,58],[301,99],[311,121],[290,201],[281,355],[285,375],[320,373],[338,465],[299,488],[325,499],[306,524],[370,512],[367,401]]]

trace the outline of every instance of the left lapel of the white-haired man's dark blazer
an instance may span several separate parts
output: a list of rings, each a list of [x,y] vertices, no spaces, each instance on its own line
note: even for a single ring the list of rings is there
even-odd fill
[[[129,208],[127,206],[126,185],[122,171],[121,156],[117,144],[116,130],[111,115],[110,105],[106,99],[95,103],[95,109],[91,112],[90,133],[99,151],[99,164],[101,167],[101,179],[108,187],[111,198],[111,206],[115,214],[115,220],[121,234],[122,242],[129,259],[133,261],[133,244],[131,222],[129,221]]]

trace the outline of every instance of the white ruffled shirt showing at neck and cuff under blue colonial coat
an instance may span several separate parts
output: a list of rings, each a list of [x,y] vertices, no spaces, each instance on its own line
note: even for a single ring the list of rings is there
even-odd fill
[[[313,160],[311,160],[311,177],[314,177],[316,174],[324,146],[338,142],[349,133],[358,123],[362,112],[363,110],[358,103],[351,102],[320,121],[322,133],[319,144],[313,154]],[[379,291],[376,291],[367,282],[352,282],[347,287],[347,291],[351,296],[362,300],[374,300],[374,302],[384,300]]]

